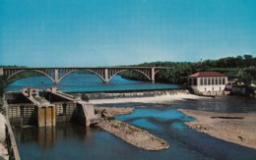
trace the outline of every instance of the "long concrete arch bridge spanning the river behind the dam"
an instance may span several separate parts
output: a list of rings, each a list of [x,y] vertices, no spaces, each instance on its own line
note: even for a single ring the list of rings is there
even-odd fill
[[[124,71],[135,71],[144,75],[148,80],[155,82],[155,75],[161,70],[168,70],[166,67],[6,67],[0,68],[0,76],[6,76],[10,80],[15,75],[25,72],[34,71],[46,76],[54,83],[59,83],[69,74],[77,71],[88,71],[96,74],[96,76],[104,83],[109,82],[114,76]]]

